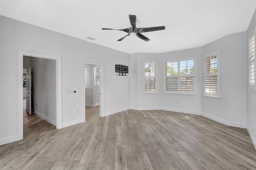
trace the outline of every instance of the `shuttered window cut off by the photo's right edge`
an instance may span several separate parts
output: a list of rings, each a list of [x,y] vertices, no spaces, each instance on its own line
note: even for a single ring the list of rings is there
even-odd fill
[[[249,65],[249,85],[250,89],[255,89],[255,55],[254,55],[254,49],[255,49],[255,43],[254,43],[255,36],[253,35],[249,39],[249,59],[250,59],[250,65]]]

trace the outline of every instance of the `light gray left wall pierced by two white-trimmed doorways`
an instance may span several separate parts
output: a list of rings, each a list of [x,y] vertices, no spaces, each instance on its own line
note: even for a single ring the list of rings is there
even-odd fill
[[[83,122],[83,61],[104,64],[104,115],[130,109],[130,76],[114,69],[116,63],[130,65],[129,54],[4,16],[0,36],[0,144],[18,140],[18,49],[62,57],[62,126]]]

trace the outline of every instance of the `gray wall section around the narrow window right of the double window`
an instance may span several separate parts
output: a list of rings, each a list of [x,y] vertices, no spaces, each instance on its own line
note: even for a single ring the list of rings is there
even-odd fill
[[[204,96],[202,73],[202,115],[226,125],[246,128],[246,32],[231,34],[202,46],[204,56],[220,50],[220,98]]]

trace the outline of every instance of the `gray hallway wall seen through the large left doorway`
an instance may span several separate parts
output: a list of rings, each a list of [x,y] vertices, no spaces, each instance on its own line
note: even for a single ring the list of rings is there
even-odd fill
[[[30,57],[30,67],[32,73],[32,111],[56,126],[56,61]]]

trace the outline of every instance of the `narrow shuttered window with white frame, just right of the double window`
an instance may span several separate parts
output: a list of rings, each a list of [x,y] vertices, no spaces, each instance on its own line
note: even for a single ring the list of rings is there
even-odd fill
[[[205,57],[205,95],[220,97],[219,75],[218,69],[219,55],[214,53]]]

